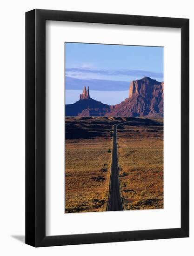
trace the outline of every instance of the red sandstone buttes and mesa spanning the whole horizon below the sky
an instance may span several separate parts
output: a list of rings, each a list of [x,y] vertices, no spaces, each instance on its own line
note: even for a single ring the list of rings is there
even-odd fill
[[[163,89],[163,82],[145,76],[131,82],[127,99],[109,106],[90,98],[89,87],[84,87],[80,100],[66,105],[66,116],[163,117]]]

